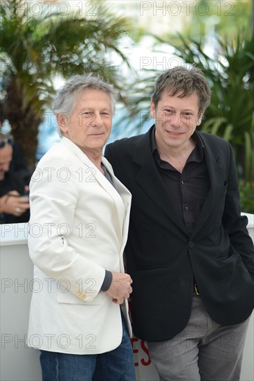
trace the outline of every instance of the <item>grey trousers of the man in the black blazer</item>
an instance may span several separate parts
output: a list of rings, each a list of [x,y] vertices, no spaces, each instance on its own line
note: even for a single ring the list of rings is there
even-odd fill
[[[165,342],[148,342],[161,381],[239,381],[249,319],[220,326],[193,296],[184,330]]]

